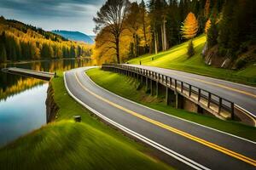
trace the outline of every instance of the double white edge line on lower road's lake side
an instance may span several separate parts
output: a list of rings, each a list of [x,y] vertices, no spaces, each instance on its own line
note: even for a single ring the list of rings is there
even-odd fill
[[[73,99],[75,99],[77,102],[79,102],[80,105],[83,105],[86,109],[88,109],[89,111],[93,112],[94,114],[96,114],[96,116],[99,116],[101,117],[103,120],[109,122],[110,124],[112,124],[113,126],[115,127],[118,127],[119,129],[121,129],[122,131],[124,131],[125,133],[129,133],[131,136],[137,138],[137,139],[140,139],[141,141],[143,141],[144,143],[148,144],[148,145],[151,145],[152,147],[154,147],[155,149],[157,150],[160,150],[164,153],[166,153],[166,155],[168,156],[172,156],[173,158],[177,159],[178,161],[182,161],[184,164],[188,165],[189,167],[193,167],[197,170],[201,170],[201,169],[205,169],[205,170],[210,170],[208,167],[204,167],[203,165],[193,161],[193,160],[190,160],[189,158],[185,157],[185,156],[182,156],[180,154],[178,154],[177,152],[173,151],[173,150],[170,150],[168,148],[166,148],[165,146],[161,145],[161,144],[158,144],[156,142],[154,142],[153,140],[151,139],[148,139],[146,137],[144,137],[143,135],[139,134],[139,133],[136,133],[132,130],[130,130],[129,128],[127,127],[124,127],[122,125],[120,125],[119,123],[117,122],[113,122],[111,119],[109,119],[108,117],[106,116],[103,116],[101,113],[99,113],[98,111],[95,111],[94,109],[92,109],[89,105],[85,105],[84,102],[82,102],[80,99],[78,99],[77,97],[75,97],[71,91],[69,90],[69,88],[67,87],[67,81],[66,81],[66,72],[64,72],[64,83],[65,83],[65,87],[67,89],[67,93],[69,95],[71,95],[73,97]]]

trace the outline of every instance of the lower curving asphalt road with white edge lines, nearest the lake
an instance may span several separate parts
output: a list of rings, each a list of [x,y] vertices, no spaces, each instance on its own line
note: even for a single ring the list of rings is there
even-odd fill
[[[178,160],[181,168],[256,169],[256,143],[123,99],[92,82],[84,74],[89,68],[65,73],[68,93],[105,121]]]

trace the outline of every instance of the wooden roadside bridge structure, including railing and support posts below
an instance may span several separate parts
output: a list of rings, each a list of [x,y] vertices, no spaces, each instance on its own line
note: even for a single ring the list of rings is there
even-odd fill
[[[150,68],[146,69],[139,66],[104,64],[102,69],[137,78],[151,95],[165,95],[166,105],[173,105],[178,109],[187,111],[211,114],[221,119],[239,120],[249,125],[256,125],[256,116],[236,105],[232,99],[226,99],[218,95],[219,93],[215,94],[212,90],[202,88],[204,86],[201,84],[195,86],[184,79],[182,81],[176,77],[171,77],[161,69],[160,71],[153,71]]]

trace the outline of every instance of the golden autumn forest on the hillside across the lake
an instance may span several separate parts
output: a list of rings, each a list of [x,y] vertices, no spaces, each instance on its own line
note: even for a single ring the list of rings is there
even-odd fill
[[[31,59],[90,57],[92,46],[0,17],[0,63]]]

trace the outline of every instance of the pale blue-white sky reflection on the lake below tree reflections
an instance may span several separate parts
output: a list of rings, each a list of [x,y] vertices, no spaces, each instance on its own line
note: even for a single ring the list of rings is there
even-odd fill
[[[0,102],[0,145],[45,124],[47,88],[44,83]]]

